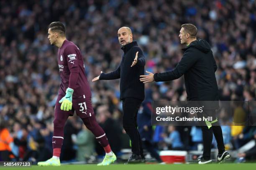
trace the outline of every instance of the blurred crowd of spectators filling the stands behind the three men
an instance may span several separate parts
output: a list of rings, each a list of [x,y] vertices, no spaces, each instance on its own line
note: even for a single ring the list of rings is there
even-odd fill
[[[1,0],[1,160],[36,162],[52,156],[54,105],[60,85],[58,49],[47,39],[48,25],[53,21],[66,25],[67,39],[82,52],[97,121],[115,153],[129,148],[121,125],[119,80],[91,80],[100,71],[118,67],[122,50],[117,31],[122,26],[132,29],[133,39],[143,49],[145,70],[164,72],[174,69],[182,58],[181,25],[196,25],[197,37],[210,43],[218,65],[215,75],[220,100],[255,100],[254,0]],[[145,89],[151,101],[186,100],[183,77],[146,84]],[[142,105],[140,112],[146,107],[149,105]],[[243,106],[240,109],[243,111]],[[145,125],[141,133],[152,131],[150,142],[157,150],[198,150],[202,143],[197,126],[156,126],[152,130],[151,125]],[[230,126],[227,120],[222,128],[227,149],[238,150],[256,140],[253,126]],[[69,117],[64,133],[61,160],[90,160],[92,155],[104,153],[79,117]],[[256,156],[255,148],[254,153],[239,154],[241,158]]]

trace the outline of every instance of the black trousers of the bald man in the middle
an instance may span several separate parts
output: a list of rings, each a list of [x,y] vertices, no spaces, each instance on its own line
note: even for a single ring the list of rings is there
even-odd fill
[[[137,114],[141,102],[142,100],[133,97],[123,100],[123,128],[131,139],[132,152],[144,158],[141,136],[137,128]]]

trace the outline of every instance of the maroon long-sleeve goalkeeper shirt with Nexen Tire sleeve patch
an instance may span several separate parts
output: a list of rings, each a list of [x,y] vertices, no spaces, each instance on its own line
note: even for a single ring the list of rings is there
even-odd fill
[[[58,65],[61,77],[59,94],[65,95],[68,87],[74,90],[73,98],[91,97],[89,82],[84,72],[84,61],[79,48],[65,40],[58,50]]]

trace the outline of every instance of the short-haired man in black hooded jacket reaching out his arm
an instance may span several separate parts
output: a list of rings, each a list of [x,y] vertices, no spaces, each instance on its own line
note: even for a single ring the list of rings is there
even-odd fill
[[[194,101],[218,101],[218,86],[215,77],[217,70],[216,62],[212,55],[212,50],[207,41],[196,38],[197,28],[192,24],[183,24],[179,32],[181,44],[186,44],[184,55],[176,68],[169,72],[151,73],[141,75],[141,82],[171,81],[184,75],[187,100]],[[218,102],[212,102],[211,108],[218,109]],[[215,109],[209,109],[204,114],[215,115]],[[210,123],[210,124],[209,124]],[[199,164],[210,163],[212,133],[218,143],[217,162],[221,163],[230,157],[225,151],[222,130],[218,120],[213,120],[202,126],[204,152]]]

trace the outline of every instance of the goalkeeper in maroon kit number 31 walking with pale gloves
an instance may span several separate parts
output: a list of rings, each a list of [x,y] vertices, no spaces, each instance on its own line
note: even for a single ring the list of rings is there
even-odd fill
[[[48,39],[51,45],[59,47],[58,65],[61,85],[54,110],[53,157],[45,162],[38,162],[38,165],[60,166],[59,156],[64,140],[64,125],[74,111],[106,152],[104,160],[98,165],[109,165],[116,160],[116,156],[110,148],[105,132],[96,122],[81,52],[73,42],[66,39],[65,30],[61,22],[51,23],[48,29]]]

